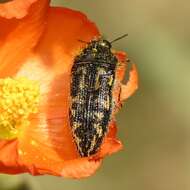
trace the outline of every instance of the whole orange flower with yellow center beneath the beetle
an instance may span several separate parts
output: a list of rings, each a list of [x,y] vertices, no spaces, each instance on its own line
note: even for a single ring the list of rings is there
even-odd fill
[[[112,119],[99,152],[81,158],[69,126],[70,70],[84,46],[78,39],[90,41],[99,31],[82,13],[50,8],[48,0],[0,4],[0,16],[0,172],[92,175],[106,155],[122,148]],[[126,55],[116,55],[119,107],[138,81],[133,65],[128,83],[121,83]]]

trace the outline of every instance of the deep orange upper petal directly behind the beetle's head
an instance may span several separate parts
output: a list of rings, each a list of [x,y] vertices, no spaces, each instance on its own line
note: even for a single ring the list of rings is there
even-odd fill
[[[68,74],[74,57],[86,45],[79,40],[90,41],[95,36],[99,36],[95,24],[82,13],[66,8],[51,8],[37,52],[44,64],[54,72]]]

